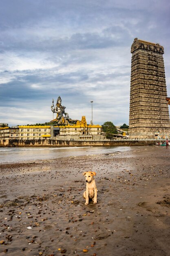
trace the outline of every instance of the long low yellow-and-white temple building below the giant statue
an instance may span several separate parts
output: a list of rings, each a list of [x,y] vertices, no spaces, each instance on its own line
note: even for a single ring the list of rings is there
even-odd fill
[[[87,124],[86,117],[82,116],[81,121],[68,125],[27,125],[0,127],[0,140],[43,140],[43,139],[101,139],[100,125]]]

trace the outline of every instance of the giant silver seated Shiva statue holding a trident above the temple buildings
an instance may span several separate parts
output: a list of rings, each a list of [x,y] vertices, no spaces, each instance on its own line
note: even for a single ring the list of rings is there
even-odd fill
[[[57,116],[55,119],[53,119],[52,121],[55,122],[56,124],[71,124],[72,120],[71,118],[69,118],[68,113],[65,112],[65,108],[64,106],[62,106],[62,99],[59,96],[57,99],[57,103],[54,107],[54,100],[52,101],[52,105],[51,105],[51,111],[53,113],[57,113]]]

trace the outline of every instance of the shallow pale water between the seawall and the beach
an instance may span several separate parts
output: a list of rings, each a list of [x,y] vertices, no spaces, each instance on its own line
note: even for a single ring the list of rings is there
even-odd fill
[[[0,163],[53,159],[59,157],[96,155],[130,151],[130,146],[118,147],[38,147],[38,148],[0,148]]]

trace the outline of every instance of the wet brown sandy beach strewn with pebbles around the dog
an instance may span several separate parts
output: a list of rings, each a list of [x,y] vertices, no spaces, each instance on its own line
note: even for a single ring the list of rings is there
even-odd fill
[[[84,171],[97,173],[97,204],[84,204]],[[0,256],[170,255],[170,148],[0,164],[0,173]]]

